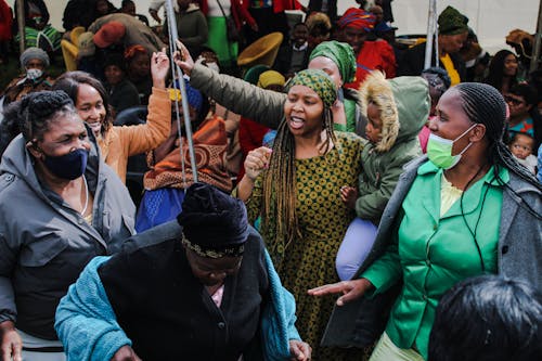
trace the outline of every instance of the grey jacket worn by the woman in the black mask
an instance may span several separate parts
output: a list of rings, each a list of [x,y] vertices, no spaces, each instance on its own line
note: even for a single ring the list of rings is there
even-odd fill
[[[86,178],[94,195],[93,227],[39,182],[18,136],[0,164],[0,322],[56,339],[54,312],[85,266],[120,249],[134,233],[136,207],[93,145]]]

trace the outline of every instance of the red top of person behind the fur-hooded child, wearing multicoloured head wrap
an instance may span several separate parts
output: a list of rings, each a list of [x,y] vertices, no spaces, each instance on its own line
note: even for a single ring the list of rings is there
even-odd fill
[[[384,72],[388,79],[396,77],[397,63],[393,48],[384,40],[363,43],[357,59],[356,78],[345,87],[358,90],[372,70]]]

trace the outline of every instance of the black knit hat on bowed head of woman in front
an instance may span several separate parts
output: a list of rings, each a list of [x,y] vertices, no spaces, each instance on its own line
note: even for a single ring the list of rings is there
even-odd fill
[[[182,203],[177,221],[183,244],[202,257],[243,255],[248,237],[245,204],[206,183],[194,183]]]

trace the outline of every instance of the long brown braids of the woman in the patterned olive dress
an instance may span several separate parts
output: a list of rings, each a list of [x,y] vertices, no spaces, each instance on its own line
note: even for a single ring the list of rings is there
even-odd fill
[[[293,80],[295,81],[295,78]],[[331,79],[330,81],[333,85]],[[292,82],[286,87],[287,89],[292,87]],[[308,87],[310,88],[309,85]],[[332,88],[336,96],[336,89],[334,86]],[[330,103],[330,100],[323,100],[322,128],[325,130],[326,139],[319,150],[322,154],[325,154],[331,149],[331,144],[336,142],[331,111],[331,105],[334,101],[335,99]],[[267,233],[273,237],[273,240],[267,241],[271,254],[274,255],[282,254],[296,236],[301,235],[296,211],[297,182],[295,155],[295,139],[289,131],[287,121],[283,118],[276,131],[269,169],[263,175],[262,180],[261,224],[263,234]],[[270,229],[271,222],[276,224],[276,229]],[[281,260],[274,259],[274,261],[280,262]]]

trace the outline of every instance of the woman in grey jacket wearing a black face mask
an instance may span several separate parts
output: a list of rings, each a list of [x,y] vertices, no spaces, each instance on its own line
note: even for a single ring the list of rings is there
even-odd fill
[[[65,92],[27,95],[0,164],[0,356],[60,361],[56,306],[133,233],[134,206]]]

